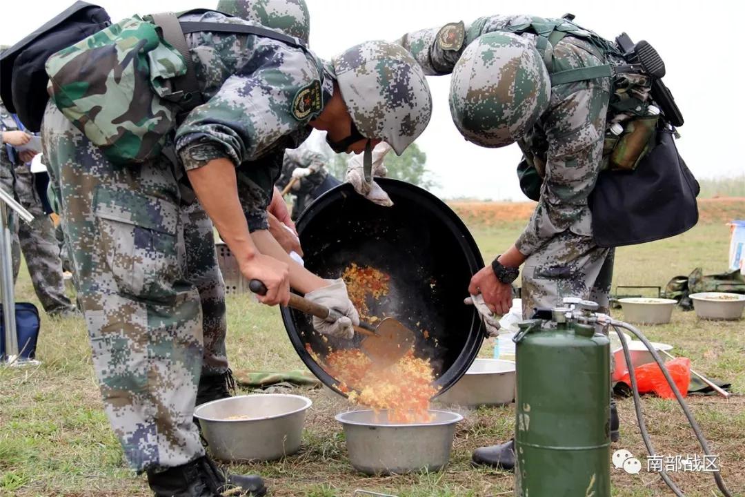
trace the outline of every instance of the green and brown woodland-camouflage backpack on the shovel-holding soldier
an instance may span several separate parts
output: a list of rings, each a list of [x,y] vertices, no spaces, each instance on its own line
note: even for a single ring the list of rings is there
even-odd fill
[[[186,13],[197,11],[206,10]],[[49,57],[51,100],[112,163],[145,162],[202,101],[184,38],[197,31],[253,34],[307,50],[296,38],[255,25],[132,16]]]

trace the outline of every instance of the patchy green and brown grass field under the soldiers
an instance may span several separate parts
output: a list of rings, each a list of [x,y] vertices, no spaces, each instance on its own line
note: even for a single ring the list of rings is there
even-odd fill
[[[456,206],[475,235],[484,258],[500,253],[514,241],[530,204],[501,218],[499,206]],[[473,209],[465,212],[464,209]],[[491,209],[491,212],[489,212]],[[495,210],[496,209],[496,210]],[[520,214],[520,212],[522,214]],[[702,204],[702,223],[690,232],[637,247],[624,247],[616,256],[615,285],[665,285],[672,276],[696,267],[706,273],[726,268],[729,229],[724,222],[745,215],[745,201]],[[491,216],[498,222],[484,222]],[[22,268],[17,300],[36,302],[31,280]],[[288,370],[302,367],[282,327],[278,312],[245,296],[229,297],[228,351],[234,370]],[[620,311],[615,316],[623,317]],[[693,312],[675,311],[665,326],[644,329],[654,341],[673,344],[676,355],[691,358],[701,373],[732,382],[738,393],[729,400],[691,396],[689,404],[719,456],[732,495],[745,495],[745,323],[697,320]],[[482,349],[489,355],[489,349]],[[147,496],[147,483],[122,458],[106,417],[91,367],[82,319],[51,320],[42,315],[38,358],[41,367],[0,368],[0,495],[2,496]],[[466,411],[454,442],[451,462],[433,474],[369,478],[354,472],[346,458],[340,426],[333,416],[346,402],[324,390],[304,392],[314,406],[308,413],[302,449],[275,463],[235,466],[235,471],[260,472],[271,496],[352,496],[355,489],[407,497],[508,496],[513,475],[472,469],[470,455],[478,446],[507,440],[513,430],[512,405]],[[644,397],[644,413],[655,448],[661,455],[702,452],[694,443],[676,405]],[[644,464],[644,446],[635,425],[633,403],[619,400],[621,441]],[[686,495],[720,495],[703,472],[674,472]],[[659,478],[612,472],[613,495],[667,496]]]

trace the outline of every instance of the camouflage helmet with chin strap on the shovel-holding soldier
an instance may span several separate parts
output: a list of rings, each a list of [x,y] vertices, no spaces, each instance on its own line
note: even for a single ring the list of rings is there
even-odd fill
[[[363,136],[381,139],[401,155],[427,127],[429,86],[422,68],[401,45],[355,45],[334,57],[330,69]]]

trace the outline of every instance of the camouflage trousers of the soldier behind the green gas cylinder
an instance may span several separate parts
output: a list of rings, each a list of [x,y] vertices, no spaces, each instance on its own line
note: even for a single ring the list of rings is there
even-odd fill
[[[615,250],[597,247],[591,236],[566,230],[530,255],[522,269],[522,315],[537,307],[560,306],[564,297],[580,297],[608,313]]]

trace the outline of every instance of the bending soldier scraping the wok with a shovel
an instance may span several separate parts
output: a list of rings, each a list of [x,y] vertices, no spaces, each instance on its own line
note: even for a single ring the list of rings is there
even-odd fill
[[[213,12],[181,20],[250,24]],[[343,151],[360,153],[384,139],[402,153],[428,123],[431,97],[410,54],[385,42],[323,64],[305,48],[253,34],[197,32],[186,41],[205,103],[186,115],[162,153],[136,167],[113,164],[60,112],[65,89],[53,87],[45,156],[60,191],[104,406],[127,460],[148,473],[159,496],[215,496],[226,483],[262,495],[259,477],[216,472],[192,422],[203,309],[186,264],[194,227],[185,226],[180,206],[196,194],[244,276],[266,285],[261,302],[287,303],[292,285],[342,314],[333,323],[314,319],[319,332],[350,338],[358,314],[343,281],[304,270],[267,232],[274,180],[285,148],[297,148],[312,127]],[[89,91],[81,96],[115,112],[101,89]]]

